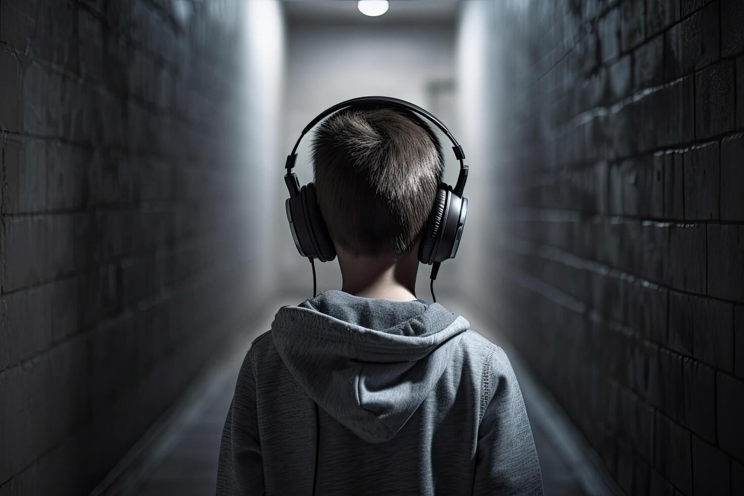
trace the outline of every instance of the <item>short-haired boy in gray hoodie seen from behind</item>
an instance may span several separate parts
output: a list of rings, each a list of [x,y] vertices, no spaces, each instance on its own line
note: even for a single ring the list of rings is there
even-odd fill
[[[240,370],[218,495],[542,495],[504,352],[414,294],[439,141],[401,109],[318,127],[318,204],[343,287],[279,310]]]

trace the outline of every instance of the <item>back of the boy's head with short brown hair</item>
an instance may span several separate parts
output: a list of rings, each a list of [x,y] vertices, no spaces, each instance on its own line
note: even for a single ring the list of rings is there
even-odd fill
[[[439,140],[417,115],[341,110],[318,126],[312,160],[318,206],[336,246],[377,257],[415,245],[444,169]]]

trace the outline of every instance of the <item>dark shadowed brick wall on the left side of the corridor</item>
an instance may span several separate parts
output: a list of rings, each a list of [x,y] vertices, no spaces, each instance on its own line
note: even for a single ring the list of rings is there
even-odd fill
[[[0,1],[0,495],[89,492],[248,306],[236,4]]]

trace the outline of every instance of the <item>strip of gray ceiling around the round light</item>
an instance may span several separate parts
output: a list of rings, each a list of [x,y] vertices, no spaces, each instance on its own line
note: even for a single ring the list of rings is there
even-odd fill
[[[356,0],[283,0],[289,22],[346,22],[391,24],[396,22],[454,22],[460,0],[390,0],[390,9],[368,17]]]

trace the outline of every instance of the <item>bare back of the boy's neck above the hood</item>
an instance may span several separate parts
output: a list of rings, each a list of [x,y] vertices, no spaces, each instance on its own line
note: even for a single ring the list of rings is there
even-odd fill
[[[351,257],[339,251],[342,291],[365,298],[391,301],[416,299],[417,251],[400,258]]]

